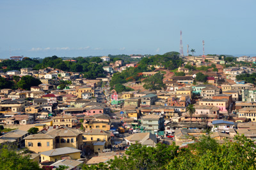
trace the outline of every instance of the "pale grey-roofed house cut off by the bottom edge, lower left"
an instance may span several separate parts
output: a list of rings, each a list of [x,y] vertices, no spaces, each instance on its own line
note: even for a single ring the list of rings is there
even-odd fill
[[[62,159],[49,165],[49,167],[53,167],[53,169],[56,169],[60,166],[67,166],[68,170],[79,170],[83,166],[82,164],[83,161],[81,160]]]

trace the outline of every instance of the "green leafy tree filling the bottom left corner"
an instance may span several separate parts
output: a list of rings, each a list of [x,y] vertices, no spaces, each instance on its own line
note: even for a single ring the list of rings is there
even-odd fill
[[[15,146],[3,145],[0,148],[0,169],[26,169],[36,170],[40,169],[37,162],[31,159],[30,155],[20,154],[22,150],[17,150]],[[23,152],[24,153],[24,152]]]

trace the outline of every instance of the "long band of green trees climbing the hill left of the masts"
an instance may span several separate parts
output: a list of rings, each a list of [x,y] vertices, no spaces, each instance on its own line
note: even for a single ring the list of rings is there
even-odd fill
[[[138,62],[136,67],[128,67],[122,73],[115,73],[110,81],[110,87],[114,87],[118,83],[126,83],[127,81],[137,81],[143,78],[142,72],[152,71],[149,65],[163,65],[166,69],[172,70],[181,66],[182,59],[178,52],[168,52],[164,55],[154,55],[145,57]]]

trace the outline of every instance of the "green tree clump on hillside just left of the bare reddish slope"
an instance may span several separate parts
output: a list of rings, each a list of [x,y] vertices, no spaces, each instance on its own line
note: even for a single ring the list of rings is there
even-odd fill
[[[143,87],[148,90],[161,90],[165,87],[163,83],[163,74],[156,73],[153,76],[149,76],[143,82],[145,83]]]

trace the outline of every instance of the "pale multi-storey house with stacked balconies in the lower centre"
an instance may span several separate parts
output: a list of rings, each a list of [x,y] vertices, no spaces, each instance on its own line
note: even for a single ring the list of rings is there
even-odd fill
[[[164,131],[164,117],[159,115],[146,115],[141,117],[141,126],[144,127],[143,132],[158,134]]]

